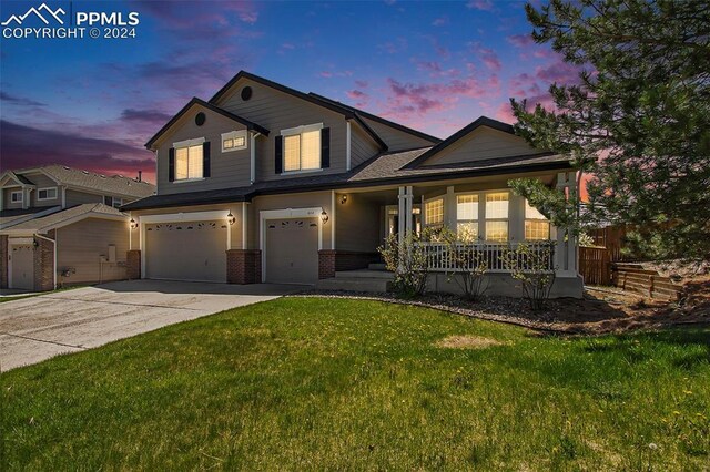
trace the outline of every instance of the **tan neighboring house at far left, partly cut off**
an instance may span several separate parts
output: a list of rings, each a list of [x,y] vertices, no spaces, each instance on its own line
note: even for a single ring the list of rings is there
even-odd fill
[[[125,278],[131,232],[118,207],[155,186],[62,165],[0,175],[0,287],[49,290]]]

